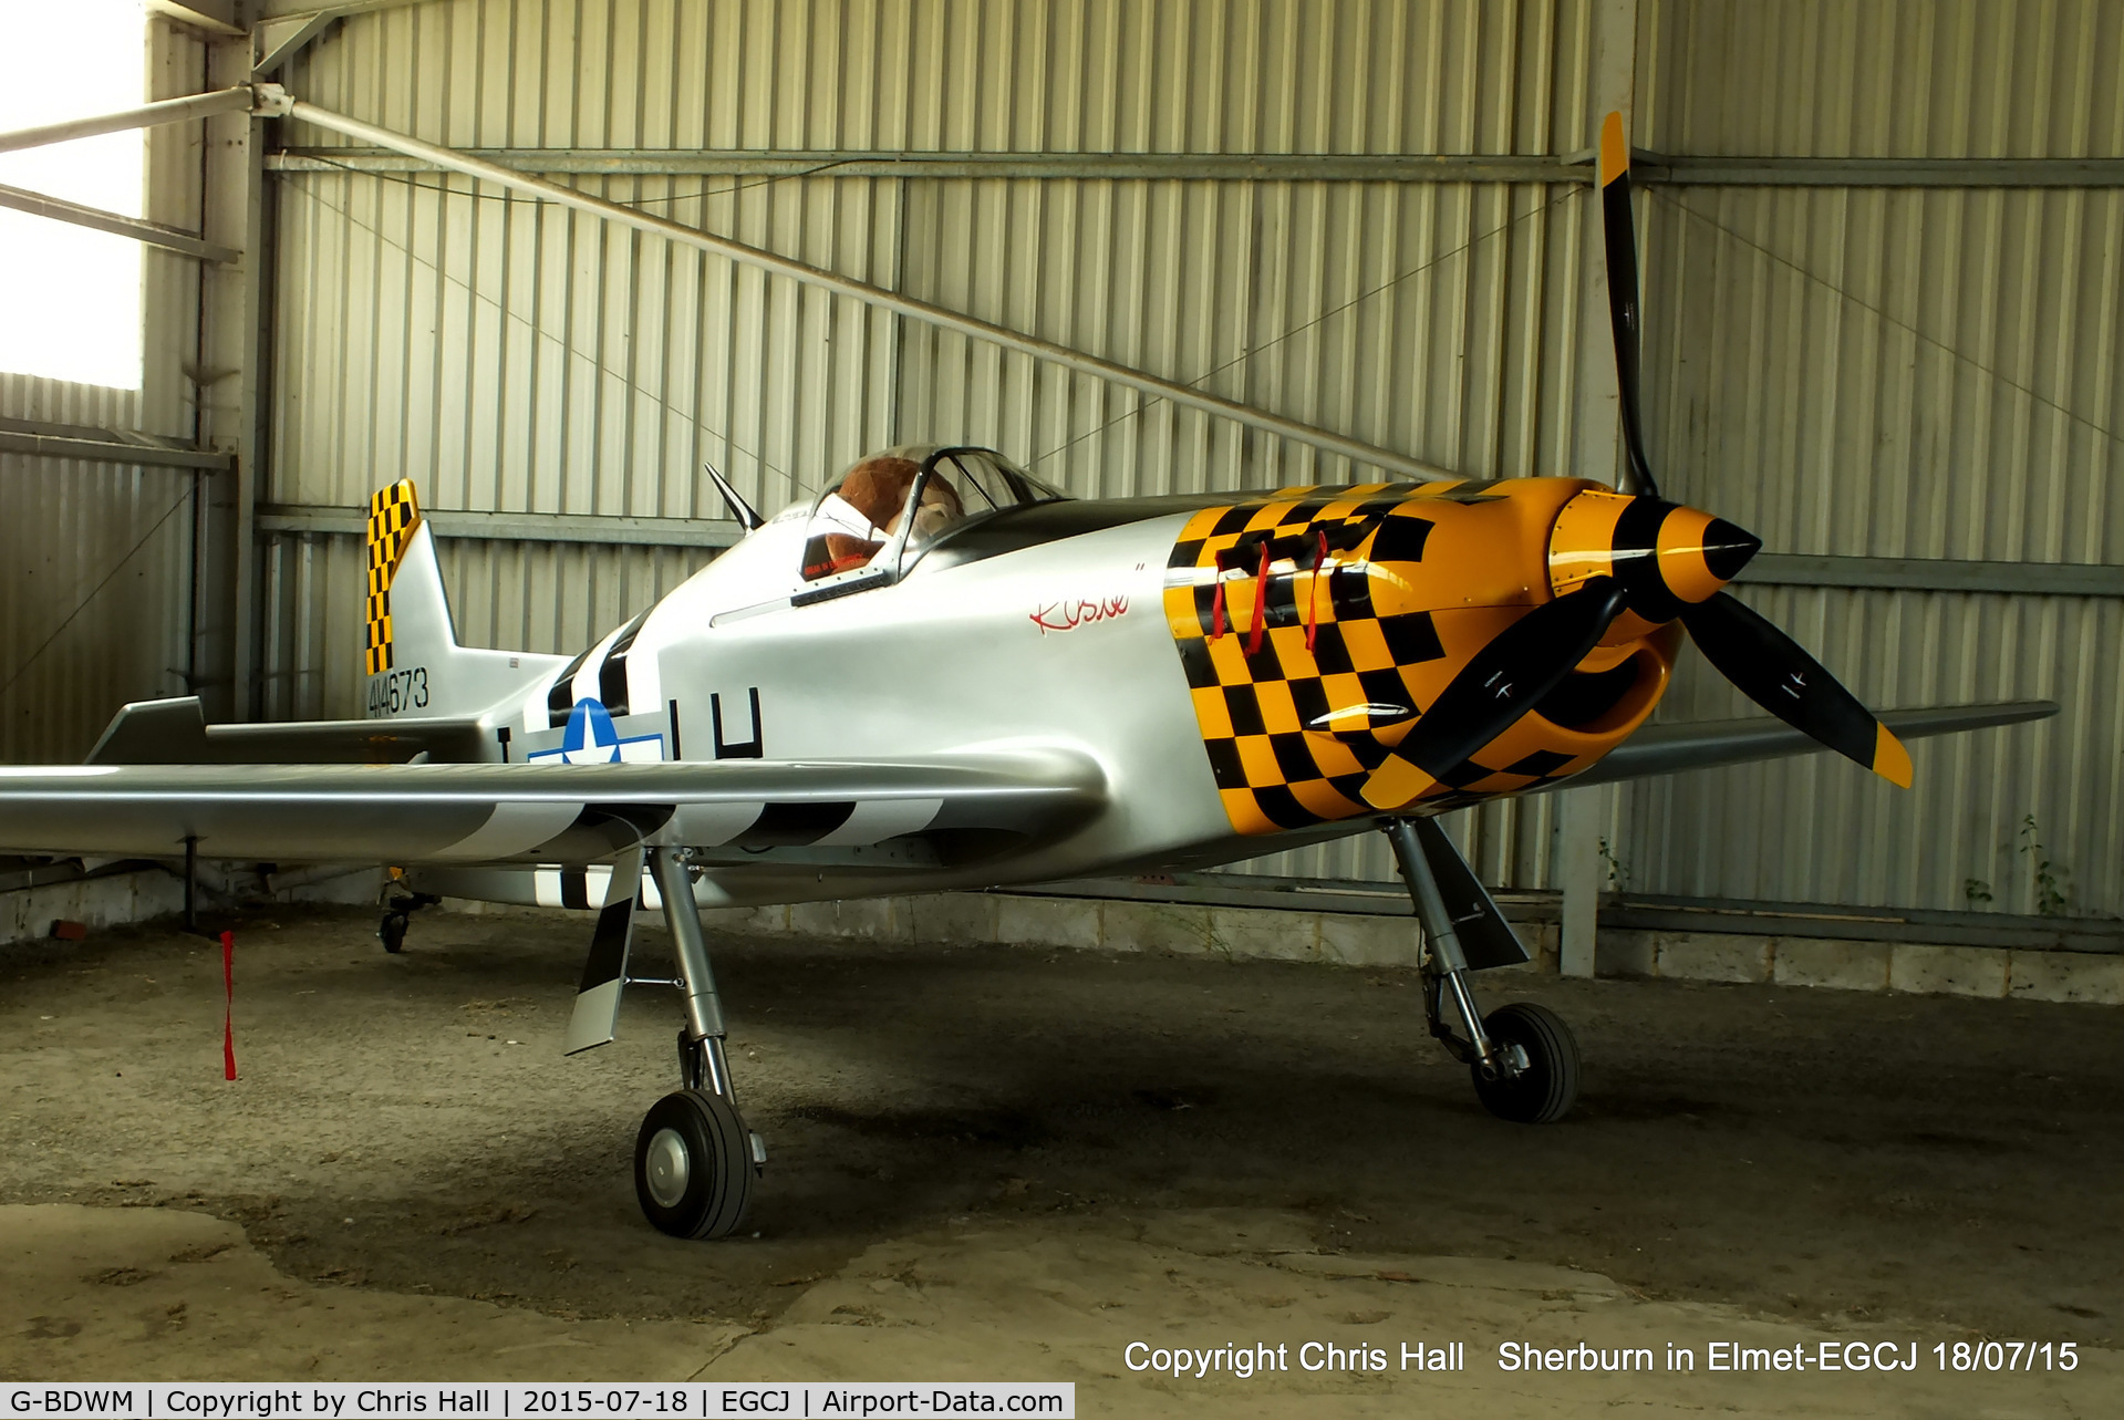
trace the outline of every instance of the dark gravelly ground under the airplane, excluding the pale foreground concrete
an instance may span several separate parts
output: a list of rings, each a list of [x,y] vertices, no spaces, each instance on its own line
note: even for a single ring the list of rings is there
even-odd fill
[[[678,1244],[631,1182],[678,1002],[637,987],[561,1057],[584,919],[425,913],[401,957],[357,911],[232,925],[234,1085],[217,945],[0,949],[0,1203],[208,1212],[297,1282],[563,1320],[771,1329],[890,1240],[1204,1210],[1810,1327],[2109,1346],[2124,1316],[2111,1008],[1491,979],[1587,1059],[1568,1121],[1517,1127],[1408,972],[718,938],[771,1163],[752,1235]]]

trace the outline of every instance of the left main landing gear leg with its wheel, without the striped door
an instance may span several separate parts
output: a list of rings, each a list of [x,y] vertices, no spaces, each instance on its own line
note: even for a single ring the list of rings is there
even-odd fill
[[[682,1089],[658,1099],[635,1136],[635,1197],[648,1220],[673,1237],[729,1237],[746,1220],[767,1148],[737,1112],[722,998],[686,864],[671,849],[650,849],[648,858],[686,993],[686,1027],[678,1034]]]

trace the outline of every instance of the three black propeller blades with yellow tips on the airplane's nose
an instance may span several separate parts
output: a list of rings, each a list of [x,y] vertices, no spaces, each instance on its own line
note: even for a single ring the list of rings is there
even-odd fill
[[[1644,452],[1638,403],[1638,231],[1629,200],[1629,144],[1618,112],[1601,123],[1599,189],[1623,444],[1631,490],[1652,499],[1659,486]],[[1731,577],[1752,550],[1748,546],[1737,558],[1727,550],[1729,567],[1718,579]],[[1638,582],[1642,605],[1631,605],[1631,592],[1618,579],[1593,577],[1536,607],[1476,652],[1364,783],[1366,802],[1398,809],[1510,730],[1585,660],[1623,611],[1648,622],[1678,618],[1706,660],[1750,700],[1890,783],[1909,787],[1909,751],[1797,641],[1727,592],[1686,601],[1650,590],[1642,577]]]

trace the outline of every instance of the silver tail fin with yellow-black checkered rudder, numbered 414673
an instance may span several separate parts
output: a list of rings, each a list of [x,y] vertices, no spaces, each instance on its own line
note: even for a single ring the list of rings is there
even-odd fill
[[[435,533],[410,478],[370,499],[367,717],[476,715],[520,696],[565,656],[486,652],[457,643]]]

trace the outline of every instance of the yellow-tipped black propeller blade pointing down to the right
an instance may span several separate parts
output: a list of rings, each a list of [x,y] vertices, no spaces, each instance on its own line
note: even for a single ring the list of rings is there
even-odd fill
[[[1682,626],[1703,658],[1744,696],[1888,783],[1909,787],[1909,751],[1903,741],[1748,603],[1718,592],[1710,601],[1684,605]]]

